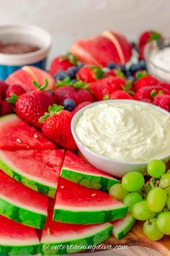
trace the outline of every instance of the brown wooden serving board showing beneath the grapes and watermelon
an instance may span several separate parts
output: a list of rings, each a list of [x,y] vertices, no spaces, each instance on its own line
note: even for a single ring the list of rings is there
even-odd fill
[[[84,158],[80,152],[79,156]],[[84,160],[86,159],[84,158]],[[167,168],[170,168],[170,161],[166,164],[166,166]],[[131,229],[131,231],[119,241],[114,236],[111,236],[102,244],[112,245],[112,247],[115,247],[115,245],[128,245],[128,247],[144,246],[155,249],[164,256],[170,256],[170,236],[164,236],[157,242],[151,241],[143,234],[143,221],[136,221],[133,229]]]

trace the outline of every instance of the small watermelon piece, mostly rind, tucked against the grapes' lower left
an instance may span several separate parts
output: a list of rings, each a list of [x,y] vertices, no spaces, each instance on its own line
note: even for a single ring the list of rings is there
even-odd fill
[[[120,240],[132,229],[135,224],[135,218],[131,213],[127,213],[125,218],[118,221],[111,221],[110,223],[113,225],[112,235],[115,236],[117,240]]]

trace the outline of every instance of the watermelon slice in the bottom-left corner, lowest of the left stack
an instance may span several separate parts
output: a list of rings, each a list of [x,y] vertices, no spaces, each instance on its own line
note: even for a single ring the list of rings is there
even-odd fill
[[[40,252],[35,229],[0,216],[0,255],[30,256]]]

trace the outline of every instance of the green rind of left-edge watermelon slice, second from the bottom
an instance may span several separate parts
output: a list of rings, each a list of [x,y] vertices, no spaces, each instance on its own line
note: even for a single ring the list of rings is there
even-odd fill
[[[0,214],[35,229],[43,229],[47,218],[42,213],[35,213],[31,210],[20,208],[2,198],[0,198]]]

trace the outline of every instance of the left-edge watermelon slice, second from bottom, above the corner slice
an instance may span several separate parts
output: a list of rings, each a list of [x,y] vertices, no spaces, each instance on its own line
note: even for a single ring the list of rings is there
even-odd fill
[[[16,182],[0,170],[0,214],[43,229],[48,215],[48,197]]]

